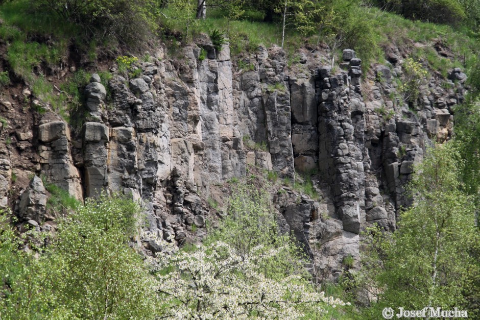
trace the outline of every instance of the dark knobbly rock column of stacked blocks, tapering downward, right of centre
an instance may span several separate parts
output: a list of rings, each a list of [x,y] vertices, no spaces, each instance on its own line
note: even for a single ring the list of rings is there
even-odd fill
[[[352,59],[353,60],[353,59]],[[363,137],[365,104],[359,95],[359,59],[350,61],[349,77],[317,70],[319,105],[319,168],[333,189],[343,229],[358,234],[365,219]]]

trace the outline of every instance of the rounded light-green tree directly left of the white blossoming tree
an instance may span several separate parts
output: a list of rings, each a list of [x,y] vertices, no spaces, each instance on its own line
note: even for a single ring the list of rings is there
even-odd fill
[[[62,270],[54,290],[61,312],[79,318],[149,319],[155,310],[155,282],[129,247],[139,208],[106,195],[87,199],[60,226],[52,265]]]

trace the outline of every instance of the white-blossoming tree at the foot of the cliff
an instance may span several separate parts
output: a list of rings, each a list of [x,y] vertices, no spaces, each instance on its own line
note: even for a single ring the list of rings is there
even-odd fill
[[[299,275],[273,280],[258,270],[282,250],[239,255],[229,244],[202,245],[194,252],[159,240],[160,317],[178,319],[290,318],[325,313],[326,306],[346,305],[316,292]]]

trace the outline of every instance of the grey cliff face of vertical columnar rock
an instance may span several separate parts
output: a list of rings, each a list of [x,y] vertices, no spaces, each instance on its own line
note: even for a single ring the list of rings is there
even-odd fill
[[[432,77],[409,106],[395,81],[399,55],[363,75],[351,50],[332,69],[320,53],[305,51],[288,66],[280,48],[259,47],[233,62],[228,45],[216,52],[207,38],[197,43],[175,58],[160,48],[135,79],[111,68],[108,88],[93,75],[81,128],[53,112],[18,111],[20,99],[48,109],[26,93],[3,96],[10,119],[3,136],[11,143],[0,150],[0,206],[14,208],[20,223],[50,230],[42,181],[29,183],[43,176],[79,200],[102,190],[141,200],[145,231],[181,243],[214,222],[208,200],[222,203],[226,181],[268,170],[302,183],[300,173],[319,199],[277,183],[268,187],[272,201],[282,230],[310,255],[312,272],[334,279],[344,257],[358,256],[363,228],[396,228],[400,208],[410,204],[404,186],[414,164],[451,135],[464,73]]]

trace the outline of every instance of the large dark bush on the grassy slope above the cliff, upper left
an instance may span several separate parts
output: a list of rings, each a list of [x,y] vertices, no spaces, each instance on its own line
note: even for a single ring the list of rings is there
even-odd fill
[[[34,10],[52,11],[77,23],[89,37],[140,44],[157,29],[159,0],[32,0]]]

